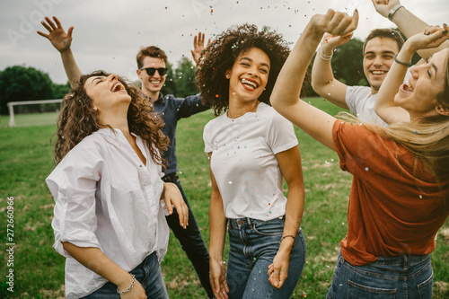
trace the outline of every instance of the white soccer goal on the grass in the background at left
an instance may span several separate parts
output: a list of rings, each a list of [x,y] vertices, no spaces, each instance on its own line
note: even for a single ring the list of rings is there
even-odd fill
[[[38,100],[38,101],[10,101],[7,103],[9,110],[9,127],[16,127],[14,118],[14,106],[20,111],[21,119],[27,119],[27,123],[34,125],[40,125],[40,123],[35,123],[33,119],[45,119],[48,118],[46,112],[50,112],[52,116],[55,115],[55,111],[59,110],[60,102],[62,99],[56,100]],[[33,106],[31,106],[33,105]],[[31,117],[34,115],[34,117]],[[37,116],[37,117],[36,117]],[[56,124],[56,122],[55,122]]]

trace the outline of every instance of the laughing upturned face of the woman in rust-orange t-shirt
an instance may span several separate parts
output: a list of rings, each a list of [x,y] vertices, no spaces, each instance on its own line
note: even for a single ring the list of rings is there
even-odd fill
[[[448,55],[449,48],[445,48],[426,64],[410,68],[409,79],[401,85],[394,102],[408,110],[411,119],[438,114],[437,108],[441,108],[441,105],[437,97],[445,90]]]

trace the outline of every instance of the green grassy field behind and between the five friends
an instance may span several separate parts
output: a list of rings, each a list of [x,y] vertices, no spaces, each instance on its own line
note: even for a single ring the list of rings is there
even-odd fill
[[[313,105],[331,114],[338,108],[321,99]],[[55,119],[55,115],[48,115]],[[207,154],[203,152],[202,131],[211,111],[180,120],[178,160],[180,180],[190,206],[208,244],[208,201],[210,180]],[[65,259],[51,247],[54,199],[44,179],[53,168],[49,139],[54,125],[0,128],[0,298],[64,297]],[[17,120],[16,120],[17,121]],[[23,120],[25,121],[25,119]],[[33,122],[31,121],[31,124]],[[51,122],[50,122],[51,123]],[[307,242],[307,259],[303,275],[293,298],[323,298],[330,286],[339,253],[339,242],[346,235],[348,194],[351,175],[339,170],[338,156],[319,145],[296,128],[303,158],[306,190],[302,227]],[[7,291],[6,254],[7,197],[13,197],[13,293]],[[449,297],[449,224],[439,233],[434,267],[434,298]],[[169,251],[162,263],[163,276],[171,298],[206,298],[189,259],[171,234]]]

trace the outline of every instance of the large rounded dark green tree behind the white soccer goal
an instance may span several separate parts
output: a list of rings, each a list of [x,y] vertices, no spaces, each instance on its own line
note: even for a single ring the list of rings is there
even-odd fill
[[[48,74],[25,66],[8,66],[0,72],[0,112],[8,114],[7,102],[51,99],[53,83]],[[30,107],[39,110],[39,107]]]

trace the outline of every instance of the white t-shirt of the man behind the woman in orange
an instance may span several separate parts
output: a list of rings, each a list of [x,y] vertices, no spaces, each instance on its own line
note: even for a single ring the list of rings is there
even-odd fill
[[[345,100],[349,110],[357,116],[357,119],[367,123],[381,124],[383,127],[387,127],[387,123],[374,112],[376,96],[377,93],[371,93],[371,87],[348,86]]]

